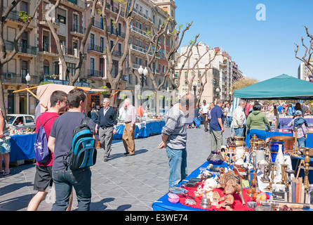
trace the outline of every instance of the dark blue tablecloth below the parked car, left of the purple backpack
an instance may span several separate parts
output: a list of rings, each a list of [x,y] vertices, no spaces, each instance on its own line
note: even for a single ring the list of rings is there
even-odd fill
[[[35,158],[34,143],[36,134],[11,136],[10,162],[17,160],[29,160]]]

